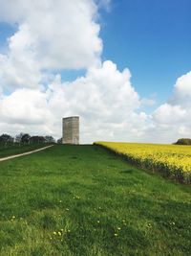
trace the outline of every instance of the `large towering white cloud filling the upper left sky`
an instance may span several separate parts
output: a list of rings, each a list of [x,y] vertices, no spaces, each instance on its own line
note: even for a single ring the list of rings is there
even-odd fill
[[[15,23],[8,55],[0,55],[4,86],[34,88],[44,70],[81,69],[100,63],[102,41],[91,0],[0,1],[0,21]]]

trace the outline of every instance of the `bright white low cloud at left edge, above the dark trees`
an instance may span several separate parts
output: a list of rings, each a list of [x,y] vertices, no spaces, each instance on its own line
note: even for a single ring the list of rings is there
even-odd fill
[[[39,90],[17,89],[0,102],[1,121],[9,124],[41,125],[50,118],[46,94]]]

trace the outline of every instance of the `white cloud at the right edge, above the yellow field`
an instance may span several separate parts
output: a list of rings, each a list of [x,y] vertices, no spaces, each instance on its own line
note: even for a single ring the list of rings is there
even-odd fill
[[[160,141],[175,141],[191,136],[191,72],[176,81],[170,100],[160,105],[153,113],[152,136]],[[154,132],[155,131],[155,132]],[[156,134],[156,135],[155,135]]]

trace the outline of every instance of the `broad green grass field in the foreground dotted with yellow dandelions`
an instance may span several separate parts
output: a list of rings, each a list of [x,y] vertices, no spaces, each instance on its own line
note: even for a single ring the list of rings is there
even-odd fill
[[[191,255],[191,188],[96,146],[2,162],[0,255]]]

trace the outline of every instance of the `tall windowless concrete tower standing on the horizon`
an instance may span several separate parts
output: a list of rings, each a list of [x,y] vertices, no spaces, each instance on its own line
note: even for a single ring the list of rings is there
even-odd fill
[[[62,143],[79,144],[78,116],[71,116],[62,119]]]

